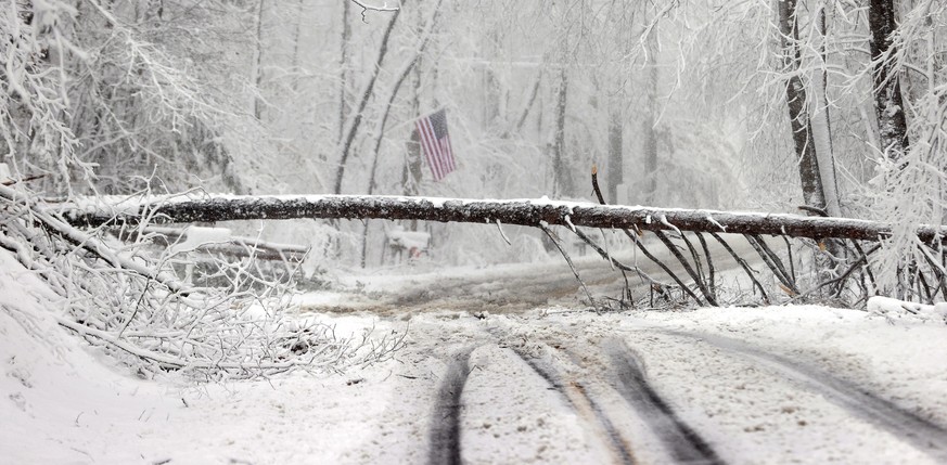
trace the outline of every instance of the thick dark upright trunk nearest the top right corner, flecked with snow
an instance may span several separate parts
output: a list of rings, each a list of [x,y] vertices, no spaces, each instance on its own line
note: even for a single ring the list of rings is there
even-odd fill
[[[901,98],[900,79],[894,72],[892,43],[895,23],[894,0],[871,0],[868,24],[871,28],[871,60],[874,63],[874,114],[878,116],[879,150],[897,162],[908,148],[908,124]]]

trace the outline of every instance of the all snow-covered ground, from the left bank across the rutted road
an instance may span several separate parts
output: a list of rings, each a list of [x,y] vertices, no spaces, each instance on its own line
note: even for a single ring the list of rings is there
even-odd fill
[[[0,264],[4,463],[947,463],[936,319],[596,315],[562,305],[574,296],[526,308],[510,274],[439,273],[460,294],[503,295],[483,312],[473,297],[408,298],[433,277],[360,277],[355,294],[304,296],[300,313],[407,328],[396,360],[195,387],[114,366],[55,325],[41,283]]]

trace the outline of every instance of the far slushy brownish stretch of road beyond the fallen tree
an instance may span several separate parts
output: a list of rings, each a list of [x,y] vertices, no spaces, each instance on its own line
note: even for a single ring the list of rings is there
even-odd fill
[[[762,260],[742,237],[727,236],[732,248],[756,270],[760,281],[771,281]],[[661,244],[647,241],[649,249],[670,267],[682,280],[687,273]],[[773,248],[781,244],[773,243]],[[700,247],[699,244],[695,246]],[[733,282],[743,276],[743,271],[730,254],[712,242],[708,244],[717,275],[727,275]],[[575,254],[575,251],[573,251]],[[687,253],[684,251],[687,255]],[[644,273],[664,283],[673,280],[647,257],[635,250],[620,250],[616,259],[625,264],[638,266]],[[625,286],[619,270],[613,269],[594,251],[587,250],[584,256],[574,256],[573,262],[589,292],[597,299],[618,298]],[[418,274],[397,275],[402,270],[394,270],[396,275],[360,276],[348,280],[348,290],[334,308],[337,312],[371,311],[377,314],[400,315],[408,312],[440,311],[445,309],[471,313],[522,313],[537,307],[588,306],[588,298],[581,289],[568,263],[555,257],[543,263],[504,264],[479,270],[436,270]],[[627,273],[632,296],[640,299],[649,295],[649,283],[635,273]],[[743,279],[742,281],[746,281]],[[748,289],[748,283],[742,283]],[[357,289],[353,292],[354,289]],[[775,285],[769,289],[780,292]],[[679,292],[676,292],[679,294]],[[601,303],[607,303],[607,299]],[[320,307],[319,310],[324,310]]]

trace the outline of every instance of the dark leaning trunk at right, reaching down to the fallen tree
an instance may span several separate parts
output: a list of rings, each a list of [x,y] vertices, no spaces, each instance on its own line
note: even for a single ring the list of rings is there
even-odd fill
[[[816,143],[812,139],[812,125],[806,111],[808,102],[806,89],[798,77],[799,55],[798,24],[796,22],[796,0],[779,0],[779,31],[782,40],[783,72],[790,77],[785,86],[785,100],[789,107],[793,145],[798,157],[799,181],[803,188],[803,202],[820,209],[826,208],[826,195],[816,158]]]

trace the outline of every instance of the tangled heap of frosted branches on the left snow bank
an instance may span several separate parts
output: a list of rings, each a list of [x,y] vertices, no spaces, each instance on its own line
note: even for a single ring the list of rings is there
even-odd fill
[[[254,269],[251,247],[247,257],[214,260],[213,277],[223,285],[197,287],[175,272],[176,263],[193,262],[183,255],[195,245],[188,240],[156,256],[150,250],[166,235],[139,228],[119,233],[132,237],[119,243],[105,228],[78,230],[31,198],[0,186],[0,246],[64,298],[61,326],[142,374],[218,379],[337,371],[385,359],[401,344],[398,335],[369,332],[338,337],[315,319],[289,315],[293,273],[266,277]],[[192,242],[207,236],[199,232]]]

